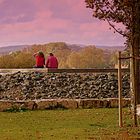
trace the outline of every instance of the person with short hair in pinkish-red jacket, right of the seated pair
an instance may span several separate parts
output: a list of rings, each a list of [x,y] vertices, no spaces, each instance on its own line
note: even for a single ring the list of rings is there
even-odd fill
[[[53,55],[53,53],[49,53],[49,56],[46,61],[46,68],[58,68],[58,60]]]

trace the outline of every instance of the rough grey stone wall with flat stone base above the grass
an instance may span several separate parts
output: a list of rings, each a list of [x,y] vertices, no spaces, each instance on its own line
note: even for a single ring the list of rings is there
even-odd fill
[[[122,76],[123,106],[130,104],[129,75]],[[93,108],[118,106],[113,73],[16,72],[0,75],[0,111],[10,108]]]

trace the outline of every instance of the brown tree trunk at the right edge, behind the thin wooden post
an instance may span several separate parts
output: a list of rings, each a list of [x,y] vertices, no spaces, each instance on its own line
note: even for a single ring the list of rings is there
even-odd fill
[[[130,60],[130,90],[133,108],[134,126],[137,126],[136,109],[140,104],[140,0],[133,0],[132,6],[132,34]]]

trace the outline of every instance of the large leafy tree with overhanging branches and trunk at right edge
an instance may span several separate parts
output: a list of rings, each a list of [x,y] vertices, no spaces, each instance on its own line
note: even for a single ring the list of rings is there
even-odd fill
[[[132,99],[134,104],[140,103],[140,0],[85,0],[87,8],[93,10],[93,16],[106,20],[114,30],[126,37],[126,45],[130,48],[132,79]],[[117,28],[122,23],[124,30]]]

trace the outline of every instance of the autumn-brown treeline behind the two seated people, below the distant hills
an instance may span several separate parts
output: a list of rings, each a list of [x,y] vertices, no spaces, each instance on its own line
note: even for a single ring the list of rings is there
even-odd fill
[[[81,49],[69,47],[64,42],[32,45],[22,51],[0,56],[0,68],[32,68],[33,54],[43,51],[47,58],[52,52],[58,58],[59,68],[113,68],[117,59],[114,52],[107,52],[93,45]]]

